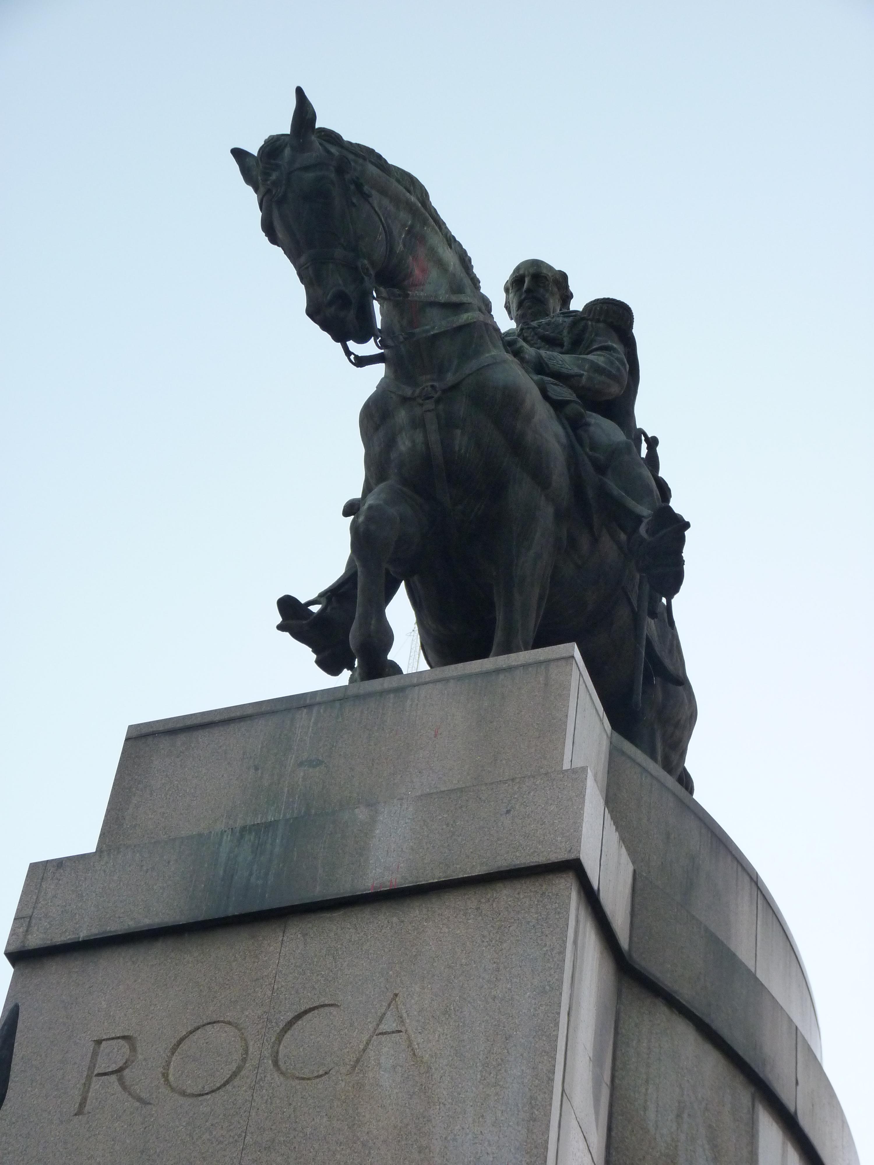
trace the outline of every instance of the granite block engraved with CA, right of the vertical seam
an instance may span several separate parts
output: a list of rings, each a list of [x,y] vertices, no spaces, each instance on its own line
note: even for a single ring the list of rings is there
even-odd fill
[[[241,1165],[541,1165],[572,892],[544,875],[290,918]]]

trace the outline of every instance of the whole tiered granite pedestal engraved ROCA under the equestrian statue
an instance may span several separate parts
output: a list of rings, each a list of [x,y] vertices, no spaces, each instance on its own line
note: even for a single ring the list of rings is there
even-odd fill
[[[6,953],[10,1165],[858,1162],[780,911],[573,647],[132,727]]]

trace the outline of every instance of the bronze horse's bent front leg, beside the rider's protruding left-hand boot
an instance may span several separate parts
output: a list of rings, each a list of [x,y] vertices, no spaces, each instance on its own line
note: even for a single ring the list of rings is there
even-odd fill
[[[358,605],[350,647],[358,665],[354,678],[397,675],[388,658],[394,634],[386,617],[386,569],[407,573],[422,544],[423,523],[417,499],[385,482],[369,493],[350,529],[358,566]]]

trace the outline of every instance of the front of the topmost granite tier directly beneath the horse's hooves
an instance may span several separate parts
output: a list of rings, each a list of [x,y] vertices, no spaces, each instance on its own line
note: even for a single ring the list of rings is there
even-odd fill
[[[607,728],[599,705],[587,712],[592,697],[580,686],[580,670],[569,644],[134,725],[98,848],[334,812],[571,763],[591,765],[604,785]],[[600,728],[575,735],[578,720]]]

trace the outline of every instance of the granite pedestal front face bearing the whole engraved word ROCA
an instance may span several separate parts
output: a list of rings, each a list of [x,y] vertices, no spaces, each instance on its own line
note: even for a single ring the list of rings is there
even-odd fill
[[[572,909],[564,873],[27,960],[2,1159],[541,1163]]]

